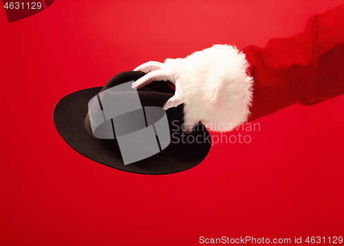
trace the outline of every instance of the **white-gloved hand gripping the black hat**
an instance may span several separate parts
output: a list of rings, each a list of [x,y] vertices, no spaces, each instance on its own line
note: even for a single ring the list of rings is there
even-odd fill
[[[184,91],[182,89],[182,76],[178,72],[178,69],[172,67],[170,65],[166,65],[165,63],[158,63],[155,61],[149,61],[148,63],[144,63],[133,71],[143,71],[147,73],[142,78],[133,82],[131,87],[133,89],[140,89],[144,87],[144,85],[148,85],[153,81],[169,81],[175,86],[175,94],[172,98],[167,100],[162,108],[167,110],[171,107],[177,107],[179,104],[184,102]]]

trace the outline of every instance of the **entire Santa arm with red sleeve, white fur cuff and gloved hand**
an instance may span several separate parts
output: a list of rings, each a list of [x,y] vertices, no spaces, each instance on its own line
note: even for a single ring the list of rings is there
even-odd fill
[[[169,80],[176,95],[164,108],[184,103],[188,128],[201,120],[211,131],[264,117],[292,104],[312,105],[344,93],[344,5],[311,16],[301,34],[274,38],[266,47],[239,52],[214,45],[186,58],[137,69],[152,80]],[[254,82],[253,82],[254,80]]]

